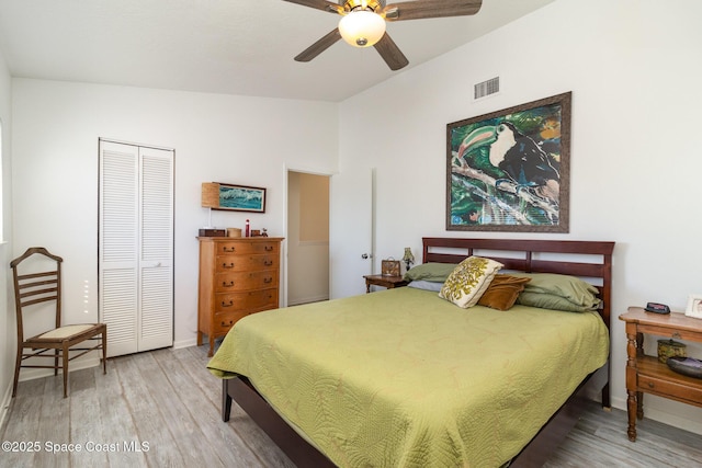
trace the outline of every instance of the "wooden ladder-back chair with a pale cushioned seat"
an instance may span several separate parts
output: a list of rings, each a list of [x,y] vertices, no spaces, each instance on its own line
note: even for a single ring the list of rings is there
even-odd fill
[[[20,263],[34,254],[41,254],[56,262],[55,270],[39,273],[20,274]],[[61,326],[61,262],[64,259],[49,253],[43,247],[27,249],[22,256],[10,262],[14,277],[14,304],[18,315],[18,357],[14,368],[12,397],[18,392],[20,367],[53,368],[64,373],[64,398],[68,396],[68,362],[91,351],[102,350],[102,372],[107,373],[107,327],[104,323],[82,323]],[[26,266],[26,265],[25,265]],[[29,313],[42,303],[55,303],[56,321],[52,329],[36,336],[24,339],[23,313]],[[45,310],[45,308],[38,308]],[[100,338],[102,335],[102,338]],[[73,347],[81,344],[80,347]],[[25,351],[31,350],[31,351]],[[53,353],[52,353],[53,351]],[[76,354],[78,352],[78,354]],[[73,353],[71,356],[70,354]],[[54,365],[23,364],[25,359],[54,358]],[[44,361],[39,361],[44,362]]]

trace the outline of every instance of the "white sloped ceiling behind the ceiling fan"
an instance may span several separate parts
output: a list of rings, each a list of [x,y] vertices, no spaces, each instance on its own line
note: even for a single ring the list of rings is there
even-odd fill
[[[388,23],[399,71],[342,41],[294,61],[340,16],[283,0],[0,0],[0,49],[13,77],[336,102],[552,1]]]

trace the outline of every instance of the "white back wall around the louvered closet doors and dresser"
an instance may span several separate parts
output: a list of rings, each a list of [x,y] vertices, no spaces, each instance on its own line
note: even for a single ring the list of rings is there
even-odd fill
[[[98,138],[176,150],[177,346],[195,341],[201,183],[267,187],[265,214],[213,212],[213,225],[250,218],[282,236],[285,167],[336,170],[330,103],[14,79],[13,112],[13,253],[44,246],[64,258],[67,322],[98,319]]]

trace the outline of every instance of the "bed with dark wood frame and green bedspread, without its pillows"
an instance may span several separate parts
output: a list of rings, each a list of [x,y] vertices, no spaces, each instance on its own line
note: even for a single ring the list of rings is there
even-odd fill
[[[422,241],[422,264],[587,278],[600,307],[461,309],[406,287],[257,313],[208,364],[223,420],[236,401],[301,467],[541,466],[587,395],[609,407],[613,242]]]

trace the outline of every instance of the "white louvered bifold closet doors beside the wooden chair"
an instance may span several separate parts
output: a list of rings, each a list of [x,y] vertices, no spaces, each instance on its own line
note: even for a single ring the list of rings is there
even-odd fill
[[[100,141],[99,259],[109,355],[172,345],[172,151]]]

